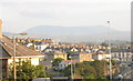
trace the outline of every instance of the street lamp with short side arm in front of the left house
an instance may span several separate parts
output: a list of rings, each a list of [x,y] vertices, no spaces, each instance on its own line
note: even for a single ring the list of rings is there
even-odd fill
[[[17,69],[16,69],[16,37],[17,36],[27,36],[27,33],[13,34],[13,80],[17,81]]]

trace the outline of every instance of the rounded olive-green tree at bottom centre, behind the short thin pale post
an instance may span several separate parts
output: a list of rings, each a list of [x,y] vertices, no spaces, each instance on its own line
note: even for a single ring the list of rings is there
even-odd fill
[[[74,67],[74,65],[73,65]],[[71,65],[66,67],[64,70],[64,75],[70,77],[71,75]],[[95,79],[96,72],[93,67],[91,67],[90,63],[76,63],[75,64],[75,74],[81,75],[84,79]]]

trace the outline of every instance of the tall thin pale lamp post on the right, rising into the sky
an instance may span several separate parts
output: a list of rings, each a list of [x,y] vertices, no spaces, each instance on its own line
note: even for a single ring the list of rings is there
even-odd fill
[[[111,34],[110,34],[110,21],[108,21],[109,28],[108,28],[108,34],[109,34],[109,54],[110,54],[110,80],[112,80],[112,62],[111,62]]]

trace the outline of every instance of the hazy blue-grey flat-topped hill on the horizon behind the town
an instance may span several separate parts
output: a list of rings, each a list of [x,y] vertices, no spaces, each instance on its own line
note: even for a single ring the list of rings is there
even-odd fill
[[[51,38],[61,42],[100,42],[108,40],[108,27],[58,27],[58,26],[37,26],[25,32],[33,38]],[[119,31],[110,28],[110,39],[130,41],[130,31]]]

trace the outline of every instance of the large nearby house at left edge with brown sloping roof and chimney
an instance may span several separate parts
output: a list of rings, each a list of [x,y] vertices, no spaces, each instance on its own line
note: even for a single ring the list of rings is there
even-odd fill
[[[0,21],[0,29],[1,29],[1,21]],[[2,31],[2,30],[0,30]],[[39,53],[34,50],[27,48],[20,43],[16,45],[16,57],[14,57],[14,43],[13,40],[2,36],[0,32],[0,67],[2,67],[2,77],[9,77],[9,69],[12,68],[13,58],[16,59],[16,65],[22,64],[22,61],[29,61],[33,65],[40,64],[40,61],[44,58],[44,54]]]

